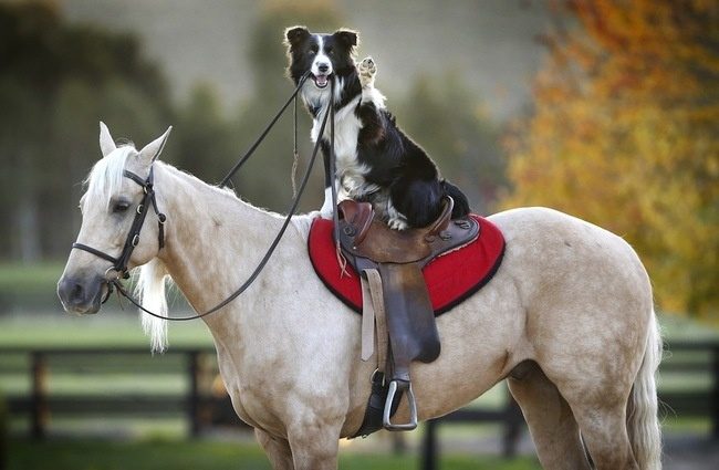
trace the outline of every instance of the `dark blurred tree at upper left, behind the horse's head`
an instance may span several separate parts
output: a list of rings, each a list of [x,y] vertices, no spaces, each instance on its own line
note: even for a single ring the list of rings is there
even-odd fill
[[[67,25],[51,1],[0,2],[0,257],[66,254],[97,122],[146,142],[169,121],[166,90],[134,36]]]

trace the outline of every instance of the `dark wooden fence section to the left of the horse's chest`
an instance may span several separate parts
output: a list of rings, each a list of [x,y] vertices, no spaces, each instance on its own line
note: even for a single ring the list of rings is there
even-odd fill
[[[9,357],[15,356],[15,361]],[[176,417],[185,415],[191,436],[218,422],[247,427],[235,415],[223,389],[212,390],[217,377],[212,347],[175,347],[150,356],[147,347],[119,348],[0,348],[0,374],[25,368],[29,394],[6,396],[10,416],[25,415],[30,436],[42,439],[53,417]],[[24,359],[24,361],[23,361]],[[50,382],[59,375],[92,376],[112,380],[117,374],[136,378],[139,390],[112,393],[55,393]],[[143,382],[157,375],[180,377],[179,390],[142,390]],[[125,387],[127,388],[127,387]]]

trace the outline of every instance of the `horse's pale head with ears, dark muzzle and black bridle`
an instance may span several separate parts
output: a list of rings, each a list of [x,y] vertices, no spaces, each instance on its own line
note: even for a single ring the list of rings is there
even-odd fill
[[[115,146],[100,123],[103,158],[87,177],[87,190],[80,200],[82,227],[58,282],[65,311],[96,313],[111,281],[157,255],[164,216],[148,189],[152,195],[153,161],[170,129],[138,152],[133,145]]]

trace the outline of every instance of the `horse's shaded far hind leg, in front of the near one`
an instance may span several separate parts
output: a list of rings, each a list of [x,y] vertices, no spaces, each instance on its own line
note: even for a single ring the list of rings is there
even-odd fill
[[[535,363],[523,363],[508,383],[522,408],[542,467],[590,470],[572,409],[542,369]]]

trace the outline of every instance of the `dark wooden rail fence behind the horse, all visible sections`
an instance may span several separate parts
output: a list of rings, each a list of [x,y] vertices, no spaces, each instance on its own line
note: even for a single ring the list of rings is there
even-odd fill
[[[669,415],[704,417],[711,420],[711,432],[719,438],[719,342],[671,343],[671,353],[660,368],[663,377],[679,377],[681,386],[659,388],[659,398]],[[12,357],[15,359],[11,359]],[[55,394],[49,382],[54,374],[72,372],[96,377],[103,382],[112,374],[136,377],[171,374],[184,377],[181,390],[171,393],[125,390],[118,394]],[[146,347],[124,348],[0,348],[0,375],[30,374],[29,394],[6,396],[11,416],[27,415],[30,434],[42,438],[55,416],[181,416],[185,415],[190,435],[197,436],[217,422],[243,425],[232,411],[227,395],[212,391],[217,375],[216,353],[211,347],[174,347],[160,357],[152,357]],[[674,382],[677,383],[675,377]],[[685,384],[685,377],[687,377]],[[691,385],[692,378],[706,386]],[[509,397],[509,396],[508,396]],[[446,424],[500,422],[503,425],[503,452],[513,455],[524,425],[517,405],[494,409],[463,408],[426,424],[423,442],[423,468],[436,469],[438,459],[437,429]]]

